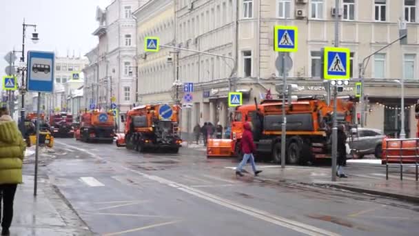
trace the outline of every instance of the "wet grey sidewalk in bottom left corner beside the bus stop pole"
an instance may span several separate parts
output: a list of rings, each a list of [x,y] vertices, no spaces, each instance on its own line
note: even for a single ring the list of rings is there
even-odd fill
[[[48,180],[38,181],[37,197],[33,195],[34,178],[24,175],[23,182],[14,198],[11,235],[92,235]]]

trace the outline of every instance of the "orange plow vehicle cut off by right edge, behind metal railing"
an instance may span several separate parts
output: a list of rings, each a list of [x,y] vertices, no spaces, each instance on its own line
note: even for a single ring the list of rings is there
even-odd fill
[[[381,164],[414,164],[419,163],[419,101],[415,105],[416,138],[413,139],[382,139]]]

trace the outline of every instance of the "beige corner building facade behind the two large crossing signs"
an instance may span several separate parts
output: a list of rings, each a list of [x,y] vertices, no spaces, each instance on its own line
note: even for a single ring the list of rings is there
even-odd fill
[[[176,46],[234,59],[180,52],[180,80],[194,82],[192,126],[204,121],[228,125],[228,91],[243,91],[245,103],[251,103],[253,97],[259,100],[269,88],[275,91],[274,85],[282,82],[281,72],[275,66],[278,53],[273,50],[276,25],[298,26],[298,52],[289,54],[293,60],[287,73],[289,83],[298,84],[298,95],[325,95],[320,79],[320,50],[334,46],[334,0],[175,2]],[[418,2],[340,1],[339,45],[351,50],[352,65],[351,83],[341,95],[354,95],[358,64],[398,39],[398,21],[407,20],[407,45],[394,43],[371,56],[365,67],[367,127],[379,128],[387,135],[397,136],[400,131],[400,84],[396,79],[405,79],[407,135],[416,133],[411,105],[419,98]],[[137,27],[141,29],[138,23]],[[143,41],[139,41],[142,45]],[[149,85],[147,92],[163,96],[164,92],[153,88],[158,84]]]

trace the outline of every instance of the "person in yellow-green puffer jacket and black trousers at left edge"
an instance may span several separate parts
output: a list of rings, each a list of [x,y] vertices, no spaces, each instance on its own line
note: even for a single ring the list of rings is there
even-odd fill
[[[14,193],[16,193],[17,184],[22,183],[22,161],[25,156],[25,146],[21,132],[12,117],[8,115],[8,110],[0,108],[0,193],[3,198],[1,235],[10,235]]]

